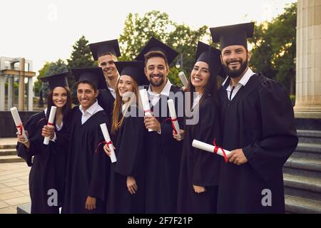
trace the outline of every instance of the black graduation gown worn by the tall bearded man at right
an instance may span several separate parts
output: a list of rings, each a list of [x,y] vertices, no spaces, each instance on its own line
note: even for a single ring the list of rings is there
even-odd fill
[[[292,104],[285,88],[255,74],[233,100],[220,90],[223,148],[242,148],[248,162],[222,163],[218,213],[284,213],[282,165],[297,146]],[[272,206],[265,191],[270,190]]]

